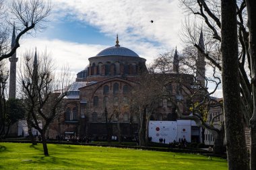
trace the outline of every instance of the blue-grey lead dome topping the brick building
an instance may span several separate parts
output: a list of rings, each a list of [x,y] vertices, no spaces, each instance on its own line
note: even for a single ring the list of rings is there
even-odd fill
[[[121,46],[111,46],[99,52],[96,56],[135,56],[139,57],[133,50]]]

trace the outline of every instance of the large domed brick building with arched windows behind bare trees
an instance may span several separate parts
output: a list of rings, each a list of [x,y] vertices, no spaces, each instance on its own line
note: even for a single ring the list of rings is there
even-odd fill
[[[49,127],[49,137],[56,136],[92,136],[105,138],[106,114],[110,121],[110,134],[117,136],[117,118],[113,116],[113,108],[127,102],[131,96],[131,89],[137,85],[136,77],[141,71],[146,71],[146,59],[119,45],[117,36],[116,45],[106,48],[89,58],[90,64],[85,70],[77,73],[75,82],[71,85],[63,104],[65,110]],[[174,57],[174,73],[170,77],[178,77],[179,56],[177,50]],[[193,75],[179,75],[190,87],[194,80]],[[203,80],[204,81],[204,80]],[[178,97],[183,105],[183,114],[189,115],[190,102],[187,95],[180,90],[178,83],[167,87],[173,97]],[[177,108],[163,96],[158,107],[152,114],[151,120],[177,120]],[[112,116],[111,116],[112,115]],[[138,115],[129,110],[122,110],[119,115],[121,135],[133,138],[138,131]],[[199,130],[199,129],[198,129]],[[192,130],[193,132],[198,130]]]

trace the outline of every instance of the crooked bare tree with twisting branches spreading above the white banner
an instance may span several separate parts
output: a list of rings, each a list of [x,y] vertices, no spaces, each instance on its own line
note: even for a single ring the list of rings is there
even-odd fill
[[[197,40],[198,41],[198,40]],[[214,126],[214,119],[221,115],[216,115],[210,122],[207,122],[209,110],[212,107],[221,107],[222,103],[216,101],[210,95],[214,94],[220,85],[220,77],[216,73],[215,67],[212,68],[211,77],[200,75],[203,81],[197,80],[197,53],[195,48],[185,48],[183,54],[179,55],[179,69],[174,69],[174,52],[160,54],[150,69],[151,74],[155,75],[163,88],[162,97],[172,102],[177,109],[179,118],[195,120],[202,128],[207,128],[214,134],[214,152],[223,152],[224,126],[221,122],[220,129]],[[208,68],[211,65],[207,66]],[[205,83],[204,83],[205,82]],[[211,83],[214,89],[207,89]],[[172,87],[179,87],[173,89]],[[187,112],[187,113],[186,113]]]

